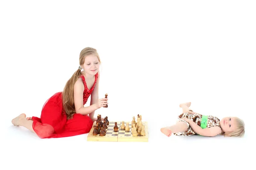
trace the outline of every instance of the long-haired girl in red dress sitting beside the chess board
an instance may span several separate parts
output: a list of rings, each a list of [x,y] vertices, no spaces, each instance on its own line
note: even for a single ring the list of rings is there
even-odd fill
[[[79,57],[79,69],[67,81],[63,92],[51,96],[44,104],[41,117],[27,117],[22,113],[12,124],[23,126],[40,138],[61,138],[89,133],[94,112],[108,104],[99,99],[100,58],[96,49],[84,48]],[[84,107],[91,95],[90,106]]]

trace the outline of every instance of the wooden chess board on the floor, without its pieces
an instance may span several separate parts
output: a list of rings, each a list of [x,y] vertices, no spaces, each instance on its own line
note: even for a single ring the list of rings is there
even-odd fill
[[[118,132],[114,132],[113,128],[115,122],[109,122],[108,129],[105,136],[93,136],[93,127],[87,136],[87,141],[102,141],[102,142],[148,142],[148,123],[142,122],[145,126],[145,136],[138,134],[138,136],[132,136],[131,133],[131,122],[129,122],[129,131],[125,131],[121,129],[121,122],[117,122],[117,126],[119,127]],[[93,123],[93,126],[96,125],[96,122]],[[126,125],[126,122],[125,122]]]

